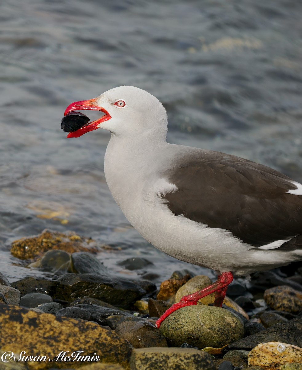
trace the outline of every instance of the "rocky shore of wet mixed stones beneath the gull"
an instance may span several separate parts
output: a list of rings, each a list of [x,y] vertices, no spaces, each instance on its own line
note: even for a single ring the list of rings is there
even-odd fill
[[[155,320],[209,277],[175,271],[158,289],[111,273],[99,248],[48,230],[12,244],[49,277],[10,284],[0,273],[0,370],[302,370],[302,263],[235,279],[222,308],[210,295],[157,329]]]

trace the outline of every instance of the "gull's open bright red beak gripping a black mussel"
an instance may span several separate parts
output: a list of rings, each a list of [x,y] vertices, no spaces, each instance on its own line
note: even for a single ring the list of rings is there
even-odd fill
[[[72,111],[83,111],[83,110],[100,111],[105,113],[105,115],[99,118],[99,120],[88,122],[87,125],[79,128],[76,131],[69,132],[69,134],[67,135],[68,138],[78,138],[86,134],[86,132],[96,130],[97,128],[99,128],[98,125],[100,123],[108,121],[111,118],[110,114],[106,111],[106,109],[96,105],[96,98],[90,100],[75,101],[74,103],[71,103],[66,108],[64,115]]]

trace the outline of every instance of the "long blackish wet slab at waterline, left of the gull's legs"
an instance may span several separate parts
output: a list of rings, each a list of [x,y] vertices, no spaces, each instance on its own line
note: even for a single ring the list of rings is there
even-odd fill
[[[59,277],[58,284],[54,298],[71,301],[90,296],[126,308],[146,293],[127,279],[94,274],[65,274]]]

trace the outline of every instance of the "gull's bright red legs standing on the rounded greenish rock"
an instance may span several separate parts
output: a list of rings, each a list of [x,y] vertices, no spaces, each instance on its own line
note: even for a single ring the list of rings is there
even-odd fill
[[[160,324],[169,316],[172,312],[178,310],[181,307],[197,305],[199,299],[208,296],[216,292],[214,305],[222,305],[223,299],[226,295],[227,286],[233,281],[233,274],[231,272],[223,272],[221,275],[218,275],[217,281],[209,286],[206,286],[202,290],[190,294],[188,296],[182,297],[180,302],[174,303],[156,322],[156,327],[159,327]]]

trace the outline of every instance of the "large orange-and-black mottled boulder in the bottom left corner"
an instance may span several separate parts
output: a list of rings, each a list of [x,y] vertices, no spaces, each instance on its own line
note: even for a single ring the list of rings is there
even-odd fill
[[[2,351],[45,354],[55,359],[62,351],[62,343],[67,343],[66,350],[70,353],[79,350],[83,351],[85,356],[96,353],[100,357],[100,362],[119,363],[125,369],[129,369],[128,361],[132,346],[115,333],[93,322],[0,305],[0,332]],[[40,362],[39,367],[34,361],[26,364],[30,370],[43,370],[49,367],[49,364],[44,362]],[[77,368],[83,365],[81,361],[72,363],[72,367]],[[64,366],[64,363],[54,361],[51,366],[62,368],[66,367],[66,363]]]

